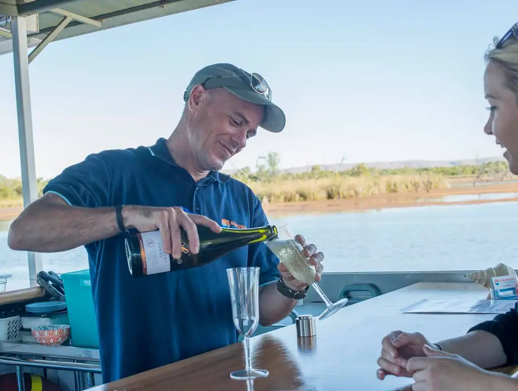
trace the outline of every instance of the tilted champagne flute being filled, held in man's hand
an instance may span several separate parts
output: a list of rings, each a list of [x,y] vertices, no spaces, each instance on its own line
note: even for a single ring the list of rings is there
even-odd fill
[[[283,225],[277,230],[277,235],[266,242],[266,246],[277,255],[279,260],[286,265],[286,268],[300,282],[311,284],[313,289],[322,297],[326,305],[324,312],[320,314],[319,319],[327,319],[336,311],[346,306],[349,301],[343,298],[336,303],[332,303],[315,282],[316,269],[309,263],[309,258],[304,255],[304,249],[295,240],[295,235],[287,227]]]

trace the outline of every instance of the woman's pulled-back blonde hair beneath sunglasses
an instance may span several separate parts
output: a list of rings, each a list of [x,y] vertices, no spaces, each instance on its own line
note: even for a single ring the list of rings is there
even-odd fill
[[[499,39],[493,40],[494,48],[488,50],[485,55],[487,63],[494,63],[500,67],[506,78],[506,87],[509,88],[518,99],[518,40],[511,38],[496,49]]]

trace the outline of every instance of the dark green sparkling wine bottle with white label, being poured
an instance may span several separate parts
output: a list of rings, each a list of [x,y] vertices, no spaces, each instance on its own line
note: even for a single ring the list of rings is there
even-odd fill
[[[199,251],[189,251],[187,233],[180,227],[182,252],[175,259],[164,252],[160,231],[142,232],[127,235],[124,239],[126,258],[130,274],[134,277],[158,273],[176,272],[206,265],[227,252],[253,243],[261,243],[277,235],[275,225],[257,228],[222,228],[215,233],[204,225],[196,225],[199,236]]]

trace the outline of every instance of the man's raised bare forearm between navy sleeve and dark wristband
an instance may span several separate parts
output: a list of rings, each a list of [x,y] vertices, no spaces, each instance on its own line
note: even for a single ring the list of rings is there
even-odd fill
[[[69,206],[47,194],[12,222],[8,244],[13,250],[66,251],[120,233],[114,208]]]

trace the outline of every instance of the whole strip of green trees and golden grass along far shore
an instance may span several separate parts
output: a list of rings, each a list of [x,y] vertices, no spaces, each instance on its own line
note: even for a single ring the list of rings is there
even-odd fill
[[[357,164],[351,169],[335,171],[313,166],[304,172],[279,170],[280,156],[268,152],[258,158],[256,170],[245,167],[233,174],[248,184],[257,196],[267,202],[296,202],[337,200],[369,197],[376,194],[426,192],[449,186],[448,180],[472,178],[475,182],[504,181],[511,177],[507,163],[486,162],[477,165],[376,169]],[[339,166],[341,163],[339,164]],[[38,195],[48,179],[38,178]],[[0,175],[0,208],[19,207],[22,201],[22,183]]]

